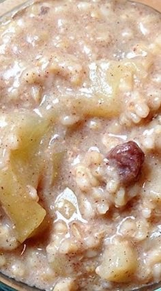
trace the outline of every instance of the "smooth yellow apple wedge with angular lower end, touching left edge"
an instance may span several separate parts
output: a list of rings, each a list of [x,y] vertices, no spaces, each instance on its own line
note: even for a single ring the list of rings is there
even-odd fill
[[[0,200],[14,223],[16,238],[23,243],[42,223],[46,211],[29,197],[27,189],[20,184],[10,168],[0,172]]]

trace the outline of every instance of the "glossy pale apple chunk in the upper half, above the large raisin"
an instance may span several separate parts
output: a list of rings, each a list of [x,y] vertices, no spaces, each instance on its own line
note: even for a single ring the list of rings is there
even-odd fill
[[[89,65],[89,87],[81,89],[75,107],[83,115],[109,117],[118,115],[121,107],[117,98],[120,77],[108,61]]]

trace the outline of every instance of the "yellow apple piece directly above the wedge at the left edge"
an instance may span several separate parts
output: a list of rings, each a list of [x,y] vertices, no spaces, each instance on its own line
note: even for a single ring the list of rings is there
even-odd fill
[[[49,120],[42,120],[38,115],[20,115],[16,124],[18,149],[12,150],[10,163],[16,176],[23,184],[38,186],[42,169],[42,157],[39,154],[40,142],[48,131]]]

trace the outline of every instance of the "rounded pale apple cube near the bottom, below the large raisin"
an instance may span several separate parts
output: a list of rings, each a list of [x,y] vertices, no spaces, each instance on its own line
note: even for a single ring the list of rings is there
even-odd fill
[[[96,273],[108,281],[127,282],[137,267],[136,252],[127,241],[117,242],[104,251]]]

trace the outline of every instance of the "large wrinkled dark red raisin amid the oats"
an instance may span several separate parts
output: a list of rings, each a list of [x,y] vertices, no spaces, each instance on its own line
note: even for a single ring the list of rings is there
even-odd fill
[[[128,141],[108,152],[107,158],[117,167],[120,182],[130,184],[138,179],[145,154],[134,141]]]

